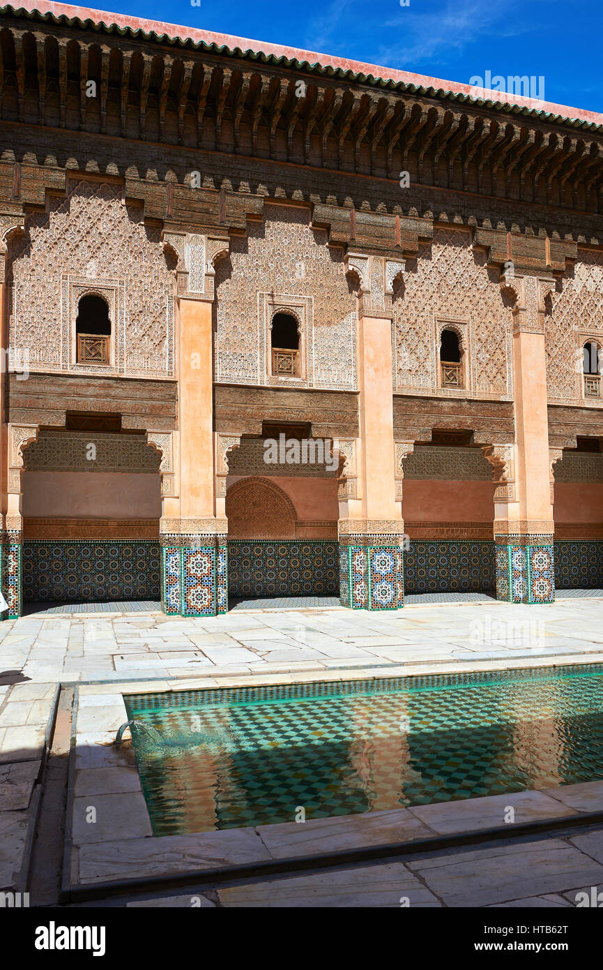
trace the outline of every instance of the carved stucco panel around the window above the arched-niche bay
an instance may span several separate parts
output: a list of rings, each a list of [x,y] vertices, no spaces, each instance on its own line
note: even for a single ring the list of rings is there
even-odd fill
[[[309,211],[267,203],[264,221],[249,223],[245,239],[231,240],[230,258],[216,268],[215,288],[216,380],[268,382],[270,337],[260,295],[295,294],[294,315],[307,328],[300,341],[302,379],[295,383],[356,389],[356,297],[343,274],[342,255],[327,245],[324,230],[311,228]],[[282,302],[286,309],[290,301]],[[305,309],[301,316],[298,306],[311,312]],[[291,378],[270,383],[287,386]]]

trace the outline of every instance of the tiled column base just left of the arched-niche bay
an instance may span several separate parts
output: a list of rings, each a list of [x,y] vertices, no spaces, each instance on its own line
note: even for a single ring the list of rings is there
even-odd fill
[[[228,610],[226,535],[162,535],[161,600],[172,616]]]

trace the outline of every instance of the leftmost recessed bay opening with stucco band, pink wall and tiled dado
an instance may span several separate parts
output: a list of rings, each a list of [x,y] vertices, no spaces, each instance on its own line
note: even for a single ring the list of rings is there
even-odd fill
[[[23,603],[158,608],[161,455],[146,436],[41,430],[23,459]]]

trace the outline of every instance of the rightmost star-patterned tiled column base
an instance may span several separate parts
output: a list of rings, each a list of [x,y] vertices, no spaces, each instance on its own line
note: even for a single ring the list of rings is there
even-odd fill
[[[553,535],[497,535],[496,598],[512,603],[555,599]]]

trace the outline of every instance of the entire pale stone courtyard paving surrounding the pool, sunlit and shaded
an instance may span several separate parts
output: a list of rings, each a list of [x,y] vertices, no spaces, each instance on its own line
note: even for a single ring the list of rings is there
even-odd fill
[[[79,745],[78,757],[91,757],[88,750],[92,752],[96,760],[84,764],[86,778],[95,775],[102,781],[107,773],[109,781],[117,757],[111,741],[115,726],[125,720],[125,710],[113,710],[123,705],[122,692],[576,663],[603,663],[603,597],[558,598],[546,606],[485,597],[409,603],[395,613],[351,612],[334,604],[283,609],[272,603],[264,610],[239,607],[225,616],[194,619],[168,618],[152,609],[128,611],[123,604],[121,612],[34,612],[5,621],[0,624],[0,889],[18,888],[27,872],[39,873],[47,865],[45,853],[48,867],[56,863],[59,871],[56,859],[62,853],[63,832],[56,806],[63,805],[64,812],[60,792],[67,787],[71,730],[67,706],[76,686],[79,704],[84,705],[78,717],[85,743]],[[67,706],[62,710],[59,701],[53,724],[59,685]],[[98,715],[101,722],[95,727]],[[114,724],[107,720],[110,715],[116,717]],[[101,723],[103,732],[94,733]],[[106,759],[109,767],[99,759]],[[140,786],[138,772],[132,766],[129,770]],[[136,857],[142,871],[144,866],[157,873],[165,872],[166,865],[177,868],[180,850],[176,852],[175,845],[164,858],[159,841],[148,837],[150,831],[142,831],[143,838],[138,838],[133,828],[127,835],[136,813],[125,802],[128,797],[142,799],[142,794],[128,794],[131,791],[128,785],[117,796],[110,792],[122,789],[109,788],[101,796],[118,798],[119,805],[125,799],[107,838],[126,841],[114,843],[112,849],[111,844],[81,846],[79,853],[101,875],[108,866],[111,871],[114,858],[136,868]],[[90,793],[85,794],[89,800]],[[521,823],[545,829],[501,840],[494,829],[500,829],[502,802],[517,803]],[[144,814],[143,803],[139,809]],[[54,849],[48,848],[44,827],[40,829],[45,819],[56,828]],[[317,859],[315,868],[303,872],[295,867],[272,874],[258,871],[217,884],[133,892],[89,905],[399,907],[400,899],[408,897],[410,906],[421,907],[556,908],[575,906],[583,889],[603,889],[603,781],[310,821],[293,825],[293,836],[287,834],[284,841],[283,836],[282,845],[277,833],[281,826],[268,827],[271,834],[259,829],[257,834],[249,829],[204,833],[202,843],[199,836],[178,837],[192,840],[182,850],[182,859],[197,857],[201,868],[210,867],[221,857],[218,842],[225,835],[235,847],[231,863],[238,853],[243,861],[253,863],[257,857],[261,863],[304,853],[328,856],[355,850],[361,843],[404,848],[413,839],[448,835],[453,841],[437,847],[427,841],[414,855],[334,863]],[[493,831],[491,841],[454,844],[455,833],[484,829]],[[77,836],[74,840],[78,845]],[[52,905],[53,891],[45,889],[47,895],[42,893],[44,898],[34,904]]]

